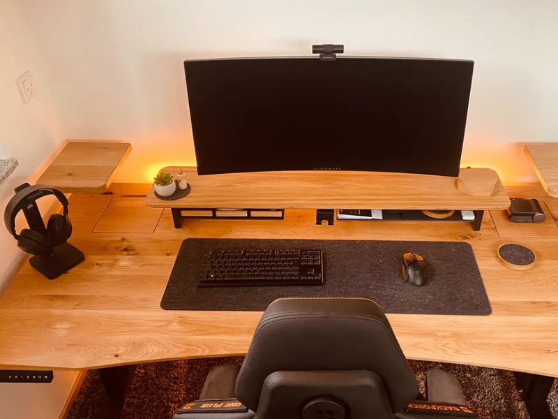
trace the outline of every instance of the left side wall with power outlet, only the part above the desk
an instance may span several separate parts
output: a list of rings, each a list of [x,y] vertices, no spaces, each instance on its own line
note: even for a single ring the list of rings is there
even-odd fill
[[[22,103],[15,80],[31,71],[37,96]],[[6,157],[20,165],[0,185],[0,209],[6,207],[15,186],[34,183],[45,161],[63,139],[59,117],[38,64],[33,38],[20,1],[0,2],[0,143]],[[0,294],[24,253],[6,228],[0,227]]]

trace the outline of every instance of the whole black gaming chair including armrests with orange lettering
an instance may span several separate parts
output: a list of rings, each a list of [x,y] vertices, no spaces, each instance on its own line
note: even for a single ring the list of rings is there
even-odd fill
[[[393,330],[366,298],[285,298],[257,325],[242,367],[220,365],[174,419],[478,418],[451,374],[427,375],[428,401]]]

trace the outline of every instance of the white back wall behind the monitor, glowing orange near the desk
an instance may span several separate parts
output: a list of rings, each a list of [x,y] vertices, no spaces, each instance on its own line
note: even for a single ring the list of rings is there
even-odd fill
[[[308,54],[474,59],[463,165],[535,179],[519,142],[558,138],[558,2],[24,0],[68,138],[121,139],[117,180],[193,163],[182,61]],[[146,172],[147,168],[147,172]]]

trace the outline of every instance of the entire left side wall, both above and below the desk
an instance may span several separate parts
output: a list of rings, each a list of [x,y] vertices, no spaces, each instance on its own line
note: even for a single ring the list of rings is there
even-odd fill
[[[0,1],[0,143],[3,154],[20,162],[0,185],[2,212],[15,186],[34,183],[64,138],[23,12],[20,1]],[[38,93],[24,105],[15,79],[26,70],[31,71]],[[13,237],[0,226],[0,295],[22,256]],[[55,372],[51,384],[0,383],[0,419],[58,418],[76,376],[75,372]]]

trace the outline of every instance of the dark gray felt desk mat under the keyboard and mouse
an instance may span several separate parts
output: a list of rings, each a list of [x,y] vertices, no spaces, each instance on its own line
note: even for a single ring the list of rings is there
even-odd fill
[[[199,263],[214,249],[322,249],[322,286],[200,287]],[[402,255],[426,260],[428,283],[401,277]],[[490,314],[472,247],[463,242],[366,240],[187,239],[182,242],[161,301],[165,310],[263,311],[280,297],[368,297],[386,313]]]

